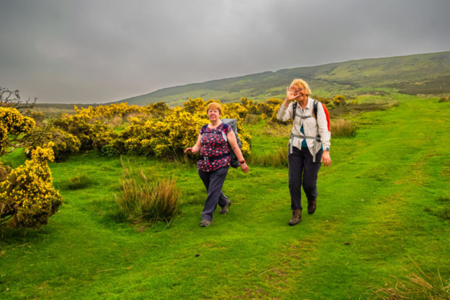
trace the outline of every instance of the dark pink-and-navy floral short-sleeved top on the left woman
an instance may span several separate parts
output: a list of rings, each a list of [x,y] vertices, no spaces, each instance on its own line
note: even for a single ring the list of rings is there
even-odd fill
[[[207,125],[200,129],[202,148],[200,149],[200,160],[197,162],[197,168],[199,170],[210,172],[231,164],[231,158],[228,155],[230,148],[228,142],[224,140],[224,136],[222,135],[222,132],[226,135],[231,130],[233,130],[231,126],[224,123],[215,129],[210,129]],[[208,157],[208,160],[203,159],[203,157]],[[214,159],[214,157],[220,158]]]

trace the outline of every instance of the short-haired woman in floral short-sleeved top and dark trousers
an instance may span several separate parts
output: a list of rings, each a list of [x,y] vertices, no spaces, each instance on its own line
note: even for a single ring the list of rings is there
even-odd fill
[[[222,193],[226,173],[231,164],[228,144],[230,144],[231,150],[239,159],[240,169],[244,173],[247,173],[249,170],[247,164],[245,164],[242,152],[240,152],[236,135],[229,124],[224,124],[220,120],[222,114],[221,105],[214,102],[210,103],[206,111],[210,118],[210,124],[200,129],[197,143],[195,143],[193,148],[187,148],[184,151],[191,154],[200,152],[201,155],[197,163],[198,175],[208,191],[202,212],[202,221],[200,222],[202,227],[210,226],[212,223],[212,214],[216,210],[217,204],[221,207],[221,214],[228,213],[228,208],[231,205],[231,201]]]

